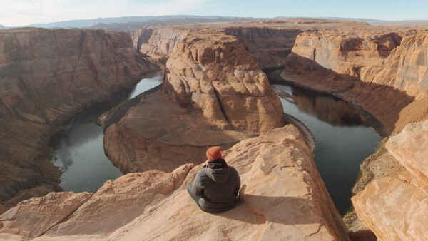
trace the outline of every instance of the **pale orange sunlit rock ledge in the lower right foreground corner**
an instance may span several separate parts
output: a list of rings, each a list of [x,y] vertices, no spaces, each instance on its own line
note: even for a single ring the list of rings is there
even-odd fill
[[[428,239],[428,121],[411,123],[386,148],[406,168],[379,178],[352,198],[362,222],[381,240]]]

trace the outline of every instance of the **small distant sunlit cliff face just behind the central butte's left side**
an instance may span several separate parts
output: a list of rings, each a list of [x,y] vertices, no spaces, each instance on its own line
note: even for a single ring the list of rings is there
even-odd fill
[[[138,51],[162,63],[187,34],[188,30],[172,27],[146,28],[130,31],[133,44]]]

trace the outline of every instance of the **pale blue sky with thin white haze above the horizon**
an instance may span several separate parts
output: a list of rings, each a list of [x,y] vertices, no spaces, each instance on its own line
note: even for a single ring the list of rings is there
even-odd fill
[[[427,0],[0,0],[0,24],[190,14],[428,20]]]

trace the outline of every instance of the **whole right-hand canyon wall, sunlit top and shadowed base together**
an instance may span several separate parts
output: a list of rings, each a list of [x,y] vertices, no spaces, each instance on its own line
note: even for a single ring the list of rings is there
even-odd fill
[[[427,95],[427,34],[387,29],[315,31],[297,36],[282,77],[355,102],[384,124]],[[292,73],[292,74],[290,74]]]

